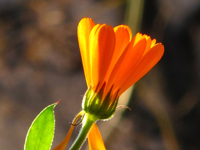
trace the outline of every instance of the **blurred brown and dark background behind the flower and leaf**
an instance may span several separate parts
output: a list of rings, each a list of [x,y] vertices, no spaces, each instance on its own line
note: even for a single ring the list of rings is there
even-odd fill
[[[106,148],[199,150],[199,0],[0,0],[0,149],[23,149],[33,119],[59,99],[53,147],[65,137],[87,88],[76,32],[83,17],[127,24],[165,46],[129,103],[130,93],[120,100],[132,111],[99,122]]]

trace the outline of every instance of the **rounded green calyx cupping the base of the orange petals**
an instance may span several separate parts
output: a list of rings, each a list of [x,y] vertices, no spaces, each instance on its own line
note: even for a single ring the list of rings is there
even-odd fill
[[[98,93],[89,88],[83,98],[82,108],[83,110],[98,118],[98,120],[110,119],[114,115],[114,112],[118,103],[118,96],[116,95],[114,100],[111,99],[111,90],[103,99],[104,85]]]

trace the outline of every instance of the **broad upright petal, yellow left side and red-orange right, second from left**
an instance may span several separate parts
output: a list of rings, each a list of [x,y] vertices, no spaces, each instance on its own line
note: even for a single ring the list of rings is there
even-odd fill
[[[103,84],[115,48],[113,28],[105,24],[95,27],[91,31],[89,41],[91,83],[93,88],[99,83],[100,86]]]

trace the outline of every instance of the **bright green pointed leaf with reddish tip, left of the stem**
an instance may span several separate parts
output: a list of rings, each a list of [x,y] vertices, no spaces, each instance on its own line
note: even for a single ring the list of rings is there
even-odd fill
[[[54,136],[54,103],[43,109],[32,122],[26,136],[24,150],[50,150]]]

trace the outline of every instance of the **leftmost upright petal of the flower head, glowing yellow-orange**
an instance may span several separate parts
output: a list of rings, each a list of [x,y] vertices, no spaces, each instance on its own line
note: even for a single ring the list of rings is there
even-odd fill
[[[90,18],[83,18],[77,28],[79,48],[81,52],[81,58],[83,63],[83,69],[85,73],[86,83],[89,87],[91,84],[90,76],[90,53],[89,53],[89,36],[92,28],[95,26],[95,23]]]

